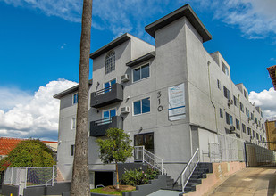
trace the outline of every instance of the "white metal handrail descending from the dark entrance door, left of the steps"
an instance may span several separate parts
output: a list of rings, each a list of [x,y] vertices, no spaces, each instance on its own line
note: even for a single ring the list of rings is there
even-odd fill
[[[161,174],[166,174],[166,169],[163,167],[163,159],[156,156],[154,153],[147,151],[145,146],[134,146],[135,151],[142,152],[142,161],[145,162],[147,165],[154,167],[155,169],[159,170]],[[159,160],[159,161],[156,161]]]

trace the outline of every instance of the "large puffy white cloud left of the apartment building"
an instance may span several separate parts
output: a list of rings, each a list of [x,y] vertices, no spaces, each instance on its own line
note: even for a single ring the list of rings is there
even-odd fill
[[[34,137],[57,139],[59,100],[53,95],[75,86],[77,83],[60,79],[51,81],[46,86],[40,86],[38,91],[29,96],[28,101],[21,94],[13,94],[16,103],[10,110],[0,107],[0,134],[11,137]],[[22,91],[21,91],[22,93]],[[18,97],[17,97],[18,96]],[[8,102],[4,97],[3,102]]]

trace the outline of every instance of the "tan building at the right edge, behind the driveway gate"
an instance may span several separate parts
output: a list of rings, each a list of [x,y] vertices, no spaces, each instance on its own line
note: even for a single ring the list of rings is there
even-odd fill
[[[265,121],[266,137],[268,149],[276,151],[276,117],[268,118]]]

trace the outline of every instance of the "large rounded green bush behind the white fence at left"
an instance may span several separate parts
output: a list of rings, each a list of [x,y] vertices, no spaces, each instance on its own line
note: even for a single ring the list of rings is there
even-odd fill
[[[6,167],[52,167],[54,152],[39,140],[23,140],[0,161],[0,170]]]

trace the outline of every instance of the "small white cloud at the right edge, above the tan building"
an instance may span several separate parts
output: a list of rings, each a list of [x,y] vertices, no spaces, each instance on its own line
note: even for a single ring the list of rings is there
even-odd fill
[[[249,101],[255,103],[255,106],[260,106],[263,110],[263,117],[276,117],[276,91],[270,88],[268,91],[263,90],[260,93],[251,91],[249,94]]]

